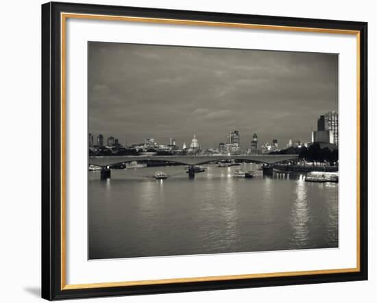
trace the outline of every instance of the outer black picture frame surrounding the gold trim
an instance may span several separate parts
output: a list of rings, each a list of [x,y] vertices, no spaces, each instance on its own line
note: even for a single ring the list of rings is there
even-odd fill
[[[62,12],[357,31],[359,35],[359,271],[82,289],[62,287]],[[60,300],[367,280],[367,23],[50,2],[42,5],[42,298]]]

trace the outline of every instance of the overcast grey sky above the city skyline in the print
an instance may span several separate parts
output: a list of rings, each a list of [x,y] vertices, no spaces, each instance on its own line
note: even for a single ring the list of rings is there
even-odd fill
[[[338,56],[124,43],[88,44],[88,128],[123,145],[155,138],[182,147],[310,141],[317,118],[338,109]]]

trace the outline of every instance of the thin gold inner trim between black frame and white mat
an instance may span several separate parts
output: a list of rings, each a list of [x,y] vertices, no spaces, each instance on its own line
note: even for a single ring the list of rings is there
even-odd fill
[[[288,32],[315,32],[326,34],[350,34],[356,36],[356,267],[355,268],[342,268],[342,269],[319,269],[310,271],[285,271],[274,272],[266,274],[241,274],[241,275],[228,275],[228,276],[206,276],[195,278],[169,278],[160,280],[134,280],[123,282],[101,282],[101,283],[88,283],[88,284],[66,284],[66,19],[91,19],[101,21],[127,21],[127,22],[143,22],[143,23],[161,23],[173,25],[201,25],[210,27],[233,27],[243,29],[267,29],[267,30],[282,30]],[[360,32],[357,30],[348,29],[326,29],[315,27],[291,27],[282,25],[258,25],[247,23],[225,23],[213,21],[194,21],[194,20],[180,20],[180,19],[159,19],[159,18],[145,18],[134,16],[110,16],[110,15],[97,15],[97,14],[76,14],[62,12],[60,14],[60,59],[61,59],[61,281],[60,289],[91,289],[100,287],[126,287],[136,285],[152,285],[152,284],[169,284],[169,283],[182,283],[182,282],[204,282],[204,281],[221,281],[221,280],[240,280],[250,278],[272,278],[272,277],[287,277],[287,276],[304,276],[304,275],[317,275],[317,274],[341,274],[352,273],[360,271]]]

